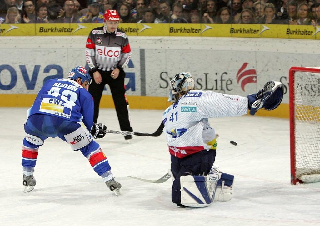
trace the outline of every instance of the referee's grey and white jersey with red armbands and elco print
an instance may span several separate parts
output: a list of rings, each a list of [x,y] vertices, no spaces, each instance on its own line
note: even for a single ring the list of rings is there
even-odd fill
[[[90,32],[85,47],[85,60],[92,70],[124,68],[131,56],[127,35],[119,29],[110,34],[104,26]]]

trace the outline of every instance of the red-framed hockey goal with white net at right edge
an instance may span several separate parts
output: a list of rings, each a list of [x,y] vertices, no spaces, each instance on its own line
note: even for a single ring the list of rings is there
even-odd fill
[[[320,67],[289,71],[291,183],[320,181]]]

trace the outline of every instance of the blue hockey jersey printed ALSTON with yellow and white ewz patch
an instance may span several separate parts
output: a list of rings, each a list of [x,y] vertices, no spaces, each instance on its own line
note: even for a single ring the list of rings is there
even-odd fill
[[[35,102],[28,109],[33,114],[55,115],[70,121],[83,121],[90,131],[93,126],[91,94],[71,79],[51,79],[40,89]]]

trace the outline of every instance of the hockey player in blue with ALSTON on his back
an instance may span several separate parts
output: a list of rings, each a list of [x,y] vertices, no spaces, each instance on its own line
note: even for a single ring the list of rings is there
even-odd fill
[[[80,150],[108,188],[121,194],[121,184],[114,180],[106,155],[92,139],[103,138],[106,126],[93,123],[93,99],[86,89],[91,81],[86,69],[77,66],[68,79],[48,80],[28,109],[22,147],[24,192],[36,185],[33,172],[39,147],[48,137],[59,137],[74,151]]]

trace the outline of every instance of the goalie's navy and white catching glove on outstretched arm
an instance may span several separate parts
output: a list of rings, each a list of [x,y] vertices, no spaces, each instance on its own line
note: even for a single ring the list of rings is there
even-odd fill
[[[254,115],[260,108],[271,111],[278,107],[282,101],[284,86],[281,82],[269,81],[258,93],[247,96],[248,109]]]

